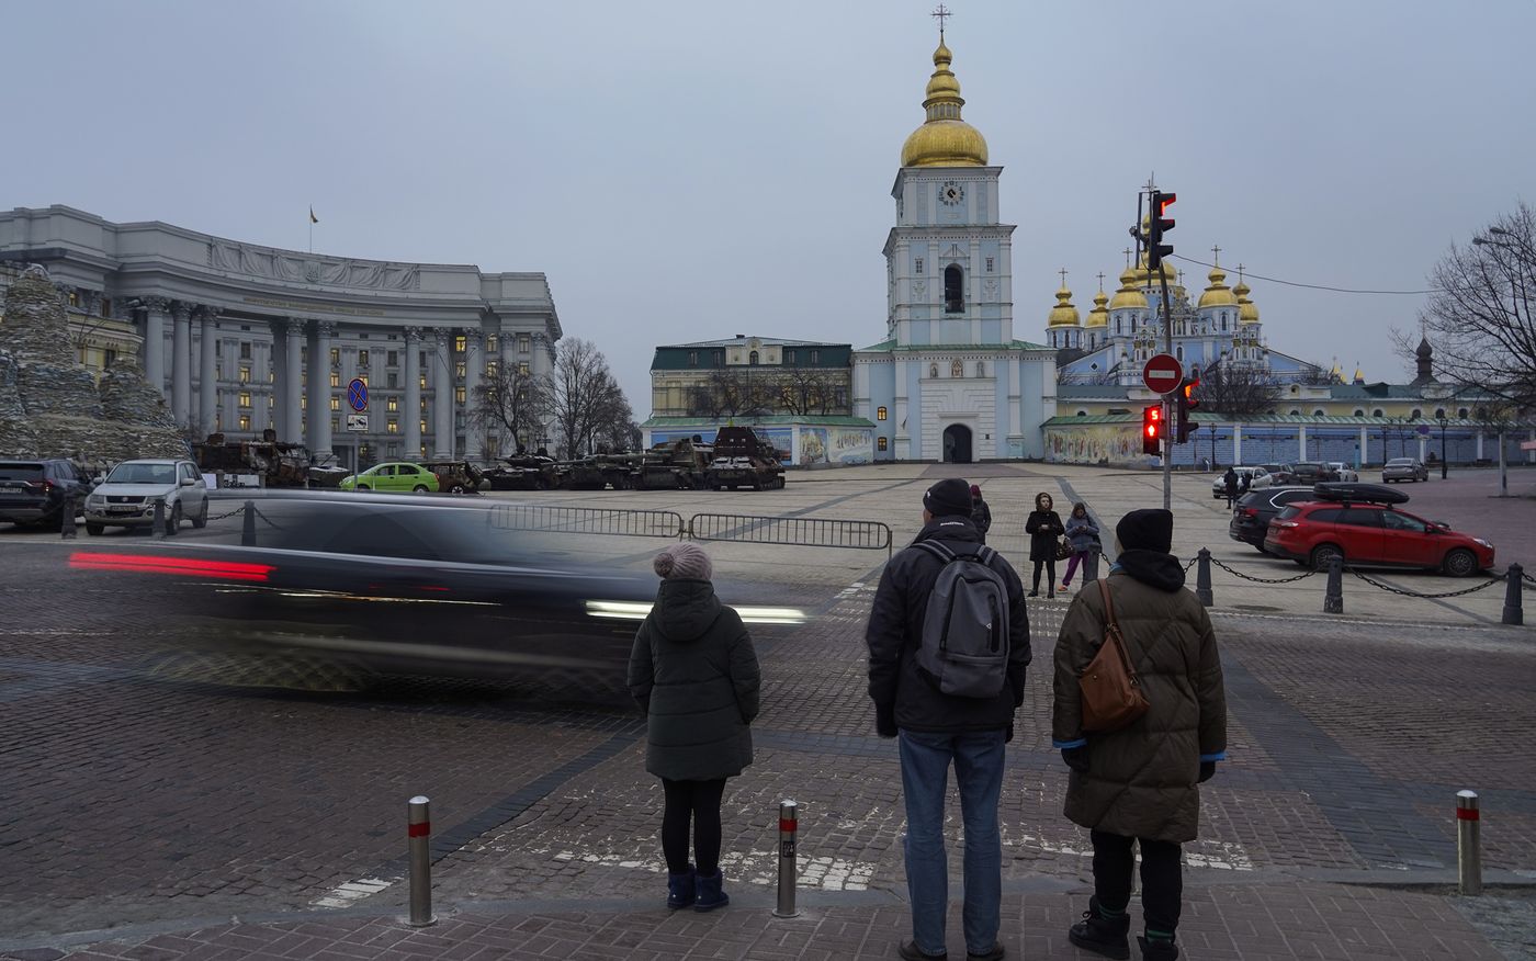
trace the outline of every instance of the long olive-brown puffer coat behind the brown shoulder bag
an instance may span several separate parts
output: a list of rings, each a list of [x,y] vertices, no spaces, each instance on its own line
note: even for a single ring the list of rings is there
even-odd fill
[[[1124,551],[1107,583],[1152,706],[1127,728],[1084,734],[1078,677],[1103,645],[1106,623],[1097,585],[1084,585],[1055,648],[1052,743],[1087,748],[1087,771],[1068,780],[1066,817],[1092,831],[1190,841],[1200,826],[1200,765],[1224,760],[1227,748],[1217,636],[1170,554]]]

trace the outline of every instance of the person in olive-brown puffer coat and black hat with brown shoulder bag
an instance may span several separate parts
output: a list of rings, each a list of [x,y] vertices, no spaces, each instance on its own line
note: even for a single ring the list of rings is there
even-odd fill
[[[1226,760],[1217,636],[1204,605],[1184,588],[1172,539],[1169,511],[1126,514],[1115,525],[1115,563],[1101,582],[1111,608],[1098,589],[1081,591],[1055,646],[1051,738],[1069,768],[1066,817],[1087,827],[1094,844],[1094,897],[1068,940],[1106,958],[1130,956],[1132,844],[1141,846],[1141,958],[1178,958],[1181,844],[1198,832],[1197,784]],[[1078,679],[1104,643],[1111,617],[1150,706],[1117,731],[1086,731]]]

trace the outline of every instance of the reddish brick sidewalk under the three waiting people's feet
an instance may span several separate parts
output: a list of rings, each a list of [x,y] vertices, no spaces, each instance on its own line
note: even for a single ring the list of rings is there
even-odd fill
[[[422,929],[396,915],[287,915],[138,933],[71,952],[0,950],[0,958],[891,958],[911,933],[906,906],[889,897],[813,897],[799,918],[782,920],[773,916],[766,892],[737,892],[736,903],[708,915],[673,913],[659,907],[665,893],[659,878],[657,886],[656,907],[647,901],[472,904],[462,912],[439,906],[439,921]],[[1049,881],[1009,887],[1001,940],[1011,958],[1092,956],[1066,941],[1086,892]],[[1456,898],[1435,893],[1306,881],[1204,886],[1192,877],[1184,898],[1178,933],[1190,961],[1508,961],[1536,950],[1527,927],[1524,935],[1496,933],[1501,952],[1458,910]],[[949,952],[965,956],[958,906],[951,907]]]

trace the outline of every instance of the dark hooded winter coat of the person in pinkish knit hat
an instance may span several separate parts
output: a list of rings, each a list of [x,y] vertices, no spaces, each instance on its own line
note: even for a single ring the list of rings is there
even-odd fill
[[[645,769],[673,781],[740,774],[753,763],[760,683],[753,639],[710,582],[664,580],[630,652]]]

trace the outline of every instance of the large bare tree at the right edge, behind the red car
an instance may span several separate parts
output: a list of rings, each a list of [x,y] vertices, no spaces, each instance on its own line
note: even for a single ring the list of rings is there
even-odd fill
[[[1536,410],[1536,210],[1521,204],[1430,272],[1435,292],[1419,312],[1441,381],[1499,398],[1514,414]],[[1393,332],[1398,353],[1415,341]]]

